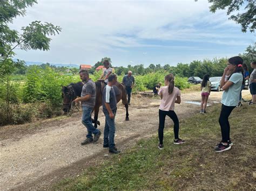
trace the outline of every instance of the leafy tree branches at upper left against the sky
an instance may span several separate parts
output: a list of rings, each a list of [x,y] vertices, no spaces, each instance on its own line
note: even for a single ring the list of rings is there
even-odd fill
[[[11,30],[8,26],[14,18],[25,16],[25,8],[37,3],[36,0],[5,0],[0,1],[0,70],[1,74],[10,74],[10,70],[5,70],[4,65],[14,65],[11,57],[15,55],[14,49],[41,49],[48,51],[50,48],[50,36],[59,34],[61,28],[51,23],[41,23],[35,21],[29,26],[22,27],[20,34],[16,30]],[[12,68],[13,66],[10,66]]]

